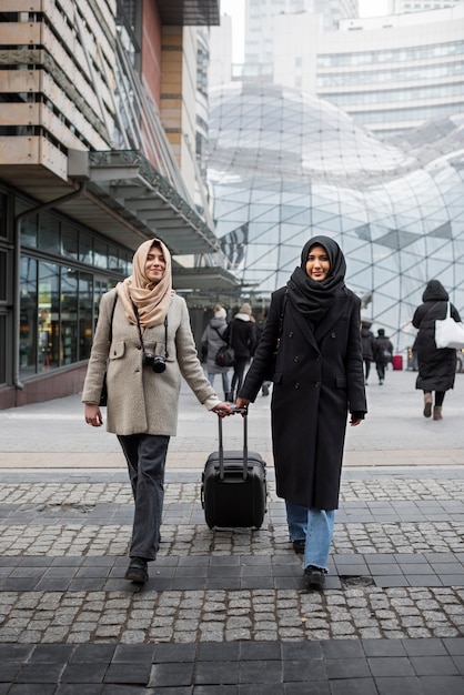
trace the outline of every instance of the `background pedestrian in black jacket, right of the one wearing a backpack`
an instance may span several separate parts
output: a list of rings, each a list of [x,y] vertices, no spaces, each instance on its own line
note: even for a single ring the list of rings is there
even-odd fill
[[[254,353],[256,344],[256,326],[251,316],[251,306],[245,302],[241,305],[240,311],[229,323],[224,332],[224,339],[229,342],[230,346],[233,348],[235,356],[231,387],[232,400],[234,400],[234,394],[236,394],[242,386],[246,364],[250,362],[250,357]]]

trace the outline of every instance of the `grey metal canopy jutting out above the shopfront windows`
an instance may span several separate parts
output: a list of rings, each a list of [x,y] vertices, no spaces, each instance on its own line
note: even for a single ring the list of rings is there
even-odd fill
[[[173,276],[179,276],[182,289],[239,286],[222,266],[223,253],[213,230],[138,151],[70,150],[68,158],[68,180],[40,164],[12,162],[0,164],[0,179],[132,251],[159,236],[174,256]],[[79,181],[85,183],[82,193],[64,200]],[[185,268],[175,258],[182,255],[210,256],[216,264]]]

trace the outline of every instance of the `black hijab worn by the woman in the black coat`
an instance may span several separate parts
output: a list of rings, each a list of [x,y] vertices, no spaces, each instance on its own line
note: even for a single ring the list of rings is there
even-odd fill
[[[306,273],[307,254],[313,246],[323,246],[331,264],[327,276],[321,282],[312,280]],[[301,265],[295,268],[286,283],[289,299],[306,319],[312,323],[317,323],[344,286],[345,272],[345,256],[336,241],[330,236],[313,236],[304,244],[301,252]]]

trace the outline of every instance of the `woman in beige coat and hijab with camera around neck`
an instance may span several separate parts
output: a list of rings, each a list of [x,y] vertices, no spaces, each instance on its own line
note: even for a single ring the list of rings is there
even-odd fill
[[[172,290],[171,256],[159,239],[139,246],[133,274],[101,299],[82,393],[85,422],[94,427],[103,424],[98,404],[107,362],[107,430],[118,435],[135,503],[125,578],[143,584],[160,541],[164,465],[176,433],[181,377],[209,411],[232,412],[204,376],[185,301]]]

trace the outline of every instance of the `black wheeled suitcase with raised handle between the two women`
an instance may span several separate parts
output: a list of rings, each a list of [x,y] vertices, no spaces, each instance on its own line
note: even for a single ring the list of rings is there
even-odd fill
[[[222,419],[219,451],[208,456],[202,475],[201,504],[210,528],[259,528],[266,511],[265,462],[248,450],[248,413],[243,420],[243,451],[224,451]]]

